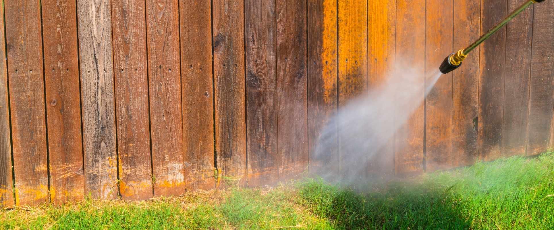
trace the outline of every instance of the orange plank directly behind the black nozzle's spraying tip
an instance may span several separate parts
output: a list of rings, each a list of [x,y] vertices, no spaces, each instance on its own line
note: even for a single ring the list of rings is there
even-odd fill
[[[425,16],[425,78],[432,79],[444,57],[452,53],[453,0],[427,0]],[[443,74],[425,100],[425,170],[451,168],[452,74]]]

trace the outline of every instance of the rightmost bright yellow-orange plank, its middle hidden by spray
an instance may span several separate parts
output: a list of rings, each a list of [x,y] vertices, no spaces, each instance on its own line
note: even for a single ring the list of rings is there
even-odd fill
[[[386,84],[396,53],[396,0],[368,1],[367,87],[376,90]],[[394,121],[392,121],[394,122]],[[369,156],[370,177],[388,177],[394,172],[394,131],[386,132],[388,142]]]

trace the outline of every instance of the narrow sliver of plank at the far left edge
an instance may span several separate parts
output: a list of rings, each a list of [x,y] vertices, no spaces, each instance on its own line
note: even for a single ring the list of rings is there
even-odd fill
[[[5,40],[4,8],[0,8],[0,41]],[[8,72],[6,64],[6,46],[0,45],[0,208],[12,206],[12,140],[9,125]]]

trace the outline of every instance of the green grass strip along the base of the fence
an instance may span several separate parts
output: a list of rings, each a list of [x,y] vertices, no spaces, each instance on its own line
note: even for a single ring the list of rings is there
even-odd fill
[[[356,191],[319,180],[0,211],[0,229],[554,229],[554,154]]]

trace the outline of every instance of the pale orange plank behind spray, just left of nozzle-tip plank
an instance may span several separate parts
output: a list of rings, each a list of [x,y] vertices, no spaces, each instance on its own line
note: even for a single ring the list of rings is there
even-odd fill
[[[419,95],[424,95],[424,62],[420,54],[425,50],[425,0],[397,2],[396,62],[409,63]],[[423,103],[399,127],[394,136],[395,171],[399,175],[423,171]]]

